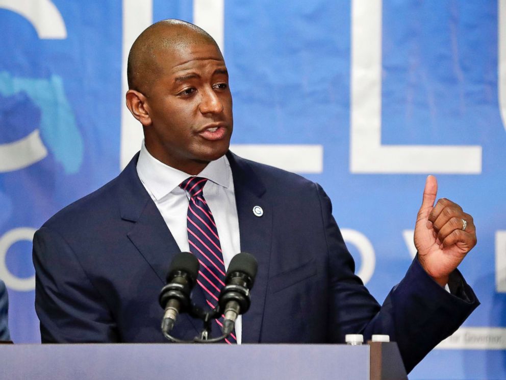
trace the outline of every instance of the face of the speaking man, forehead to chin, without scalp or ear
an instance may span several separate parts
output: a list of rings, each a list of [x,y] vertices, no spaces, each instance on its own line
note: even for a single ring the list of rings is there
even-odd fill
[[[165,164],[198,174],[230,145],[232,95],[225,62],[211,43],[165,50],[156,59],[160,75],[145,94],[146,148]]]

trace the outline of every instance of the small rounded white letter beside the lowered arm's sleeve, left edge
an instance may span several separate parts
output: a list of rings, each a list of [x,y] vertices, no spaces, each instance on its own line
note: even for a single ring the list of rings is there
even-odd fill
[[[35,275],[29,278],[16,277],[11,272],[9,272],[9,269],[7,268],[7,264],[5,262],[9,248],[14,243],[22,240],[28,240],[31,242],[33,240],[34,233],[34,228],[20,227],[6,232],[2,238],[0,238],[0,278],[5,281],[5,284],[10,289],[18,290],[21,292],[28,292],[35,289]]]

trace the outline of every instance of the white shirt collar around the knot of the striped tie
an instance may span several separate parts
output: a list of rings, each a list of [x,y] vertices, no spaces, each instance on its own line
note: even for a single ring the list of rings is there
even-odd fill
[[[144,145],[144,140],[137,161],[137,174],[157,201],[174,189],[179,190],[179,184],[190,177],[188,173],[169,167],[151,156]],[[207,178],[220,186],[229,187],[232,182],[232,174],[226,156],[209,162],[197,177]]]

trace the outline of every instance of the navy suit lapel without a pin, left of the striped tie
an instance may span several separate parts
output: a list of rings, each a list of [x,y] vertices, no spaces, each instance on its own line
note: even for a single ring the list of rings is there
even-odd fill
[[[124,181],[121,186],[124,191],[120,195],[121,218],[134,222],[127,233],[128,238],[160,278],[162,289],[172,258],[180,249],[155,202],[137,176],[137,159],[138,154],[120,174],[121,180]],[[193,289],[192,298],[197,305],[205,305],[204,294],[198,286]],[[185,317],[191,321],[196,332],[200,331],[202,326],[199,321],[187,314]]]

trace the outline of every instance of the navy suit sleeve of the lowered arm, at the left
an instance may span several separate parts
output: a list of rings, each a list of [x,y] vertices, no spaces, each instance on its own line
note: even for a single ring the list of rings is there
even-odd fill
[[[62,236],[47,227],[39,229],[33,263],[42,343],[118,341],[107,303]]]

